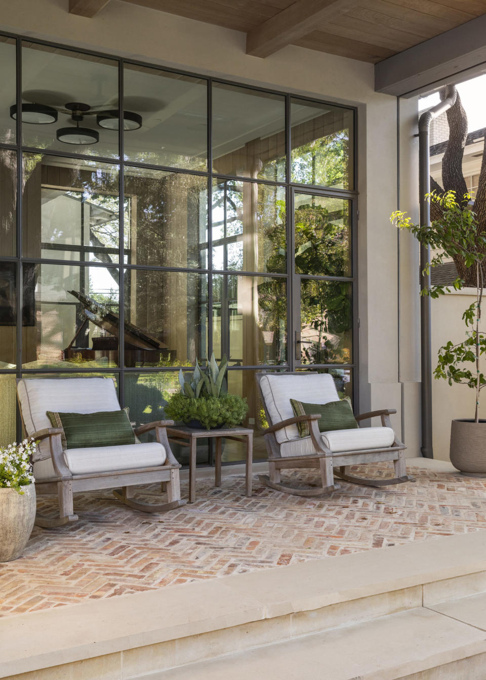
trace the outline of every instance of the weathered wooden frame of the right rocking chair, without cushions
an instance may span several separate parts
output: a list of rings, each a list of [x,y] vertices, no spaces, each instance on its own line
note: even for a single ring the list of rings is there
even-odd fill
[[[263,372],[256,373],[255,378],[257,380],[258,391],[265,411],[265,416],[267,421],[271,423],[272,419],[268,413],[260,385],[261,378],[264,375],[268,374]],[[285,375],[299,375],[302,377],[305,373],[294,371],[285,373]],[[396,413],[396,410],[382,409],[380,411],[361,413],[361,415],[355,415],[355,418],[358,422],[361,422],[363,420],[368,420],[368,418],[380,416],[382,426],[391,428],[390,415],[392,413]],[[295,418],[288,418],[287,420],[275,423],[263,431],[263,439],[265,439],[268,452],[268,469],[270,475],[259,475],[259,479],[265,486],[270,486],[272,489],[283,491],[287,494],[295,494],[296,496],[325,496],[339,488],[339,486],[334,483],[334,477],[355,484],[377,487],[387,486],[389,484],[399,484],[411,480],[411,477],[408,477],[406,473],[406,458],[404,454],[406,446],[397,439],[396,435],[395,441],[393,441],[391,447],[386,449],[363,449],[362,451],[333,454],[321,439],[321,432],[319,432],[319,427],[317,425],[319,418],[320,415],[317,413],[312,415],[297,415]],[[308,421],[309,423],[310,439],[312,439],[315,453],[302,456],[282,457],[280,443],[276,439],[275,432],[278,432],[278,430],[282,430],[289,425],[295,425],[304,421]],[[395,477],[392,479],[367,479],[365,477],[355,477],[350,474],[351,465],[381,462],[384,460],[393,461]],[[339,469],[336,470],[335,467],[338,467]],[[299,468],[319,470],[321,475],[321,486],[312,484],[290,484],[282,483],[280,481],[280,471]]]

